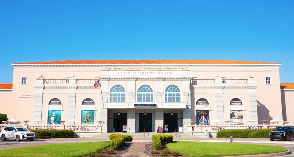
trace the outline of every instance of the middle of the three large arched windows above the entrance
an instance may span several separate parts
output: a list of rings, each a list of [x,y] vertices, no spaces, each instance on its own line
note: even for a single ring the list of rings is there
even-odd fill
[[[153,102],[153,90],[148,85],[142,85],[138,89],[138,102]]]

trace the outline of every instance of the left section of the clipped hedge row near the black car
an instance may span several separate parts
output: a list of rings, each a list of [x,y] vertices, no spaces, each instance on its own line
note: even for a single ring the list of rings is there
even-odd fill
[[[219,130],[216,133],[216,137],[218,138],[229,138],[233,136],[233,138],[247,138],[248,134],[254,132],[254,129],[228,129],[228,130]]]

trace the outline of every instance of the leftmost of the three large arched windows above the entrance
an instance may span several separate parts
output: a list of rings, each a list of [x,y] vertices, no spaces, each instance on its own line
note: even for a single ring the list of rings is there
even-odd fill
[[[122,85],[115,85],[111,88],[109,102],[126,102],[126,90]]]

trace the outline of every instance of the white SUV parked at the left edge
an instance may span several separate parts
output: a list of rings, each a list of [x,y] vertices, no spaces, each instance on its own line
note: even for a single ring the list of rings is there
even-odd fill
[[[30,140],[34,141],[35,133],[29,131],[24,127],[6,126],[0,132],[1,140],[5,141],[6,138],[14,139],[16,141]]]

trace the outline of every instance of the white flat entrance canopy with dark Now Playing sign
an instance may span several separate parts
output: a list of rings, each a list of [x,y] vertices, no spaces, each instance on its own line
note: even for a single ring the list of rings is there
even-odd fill
[[[186,108],[186,103],[104,103],[104,108]]]

